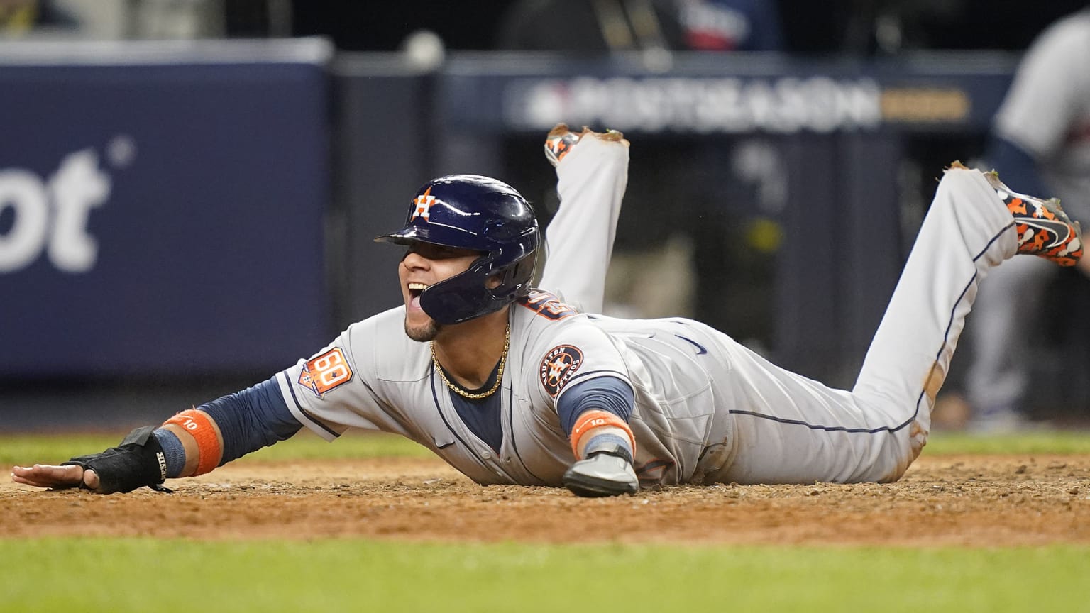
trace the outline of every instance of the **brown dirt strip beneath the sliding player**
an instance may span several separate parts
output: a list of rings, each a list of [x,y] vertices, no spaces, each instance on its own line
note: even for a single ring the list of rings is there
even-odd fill
[[[1090,456],[923,455],[897,483],[675,486],[578,498],[480,486],[437,459],[240,461],[96,495],[0,484],[0,538],[365,537],[427,541],[1090,543]]]

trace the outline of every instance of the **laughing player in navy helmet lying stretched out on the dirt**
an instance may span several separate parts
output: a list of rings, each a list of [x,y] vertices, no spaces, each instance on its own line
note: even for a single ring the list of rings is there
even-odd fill
[[[560,130],[546,147],[561,212],[580,216],[573,204],[597,203],[570,199],[597,188],[616,205],[627,159],[619,135]],[[894,481],[927,441],[978,283],[1017,253],[1064,265],[1082,253],[1055,202],[955,164],[859,380],[841,390],[691,320],[606,317],[531,288],[538,233],[505,183],[429,181],[404,227],[377,239],[405,249],[402,305],[352,324],[265,383],[66,466],[16,467],[13,479],[104,493],[159,486],[305,425],[328,440],[350,428],[396,432],[479,483],[562,484],[585,496],[675,483]],[[546,278],[601,266],[604,242],[572,245],[559,259],[567,268],[554,260]],[[589,296],[579,297],[584,306]]]

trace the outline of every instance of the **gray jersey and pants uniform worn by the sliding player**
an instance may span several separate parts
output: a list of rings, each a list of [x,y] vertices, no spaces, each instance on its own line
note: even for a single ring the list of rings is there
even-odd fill
[[[569,170],[627,157],[618,147],[584,152],[579,166],[568,164],[579,159],[573,153],[558,167],[561,185]],[[583,181],[617,185],[623,165],[604,170]],[[565,201],[561,213],[571,204]],[[605,223],[591,232],[598,238],[569,241],[572,248],[593,254],[606,231],[611,238],[609,216],[600,217]],[[927,441],[978,284],[1016,252],[1013,228],[980,172],[952,169],[943,177],[851,390],[786,371],[697,322],[582,314],[544,292],[510,308],[498,453],[459,418],[428,345],[404,334],[403,306],[353,324],[276,378],[292,414],[319,435],[331,440],[349,428],[402,434],[480,483],[559,485],[574,457],[557,400],[579,393],[574,382],[601,376],[633,389],[633,466],[644,488],[893,481]],[[604,274],[601,266],[572,272],[588,269]],[[554,278],[565,279],[559,271]],[[595,300],[582,295],[584,305]]]

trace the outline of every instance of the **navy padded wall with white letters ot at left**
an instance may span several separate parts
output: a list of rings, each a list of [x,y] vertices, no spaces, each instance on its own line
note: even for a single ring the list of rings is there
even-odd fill
[[[271,372],[319,347],[328,55],[0,53],[0,375]]]

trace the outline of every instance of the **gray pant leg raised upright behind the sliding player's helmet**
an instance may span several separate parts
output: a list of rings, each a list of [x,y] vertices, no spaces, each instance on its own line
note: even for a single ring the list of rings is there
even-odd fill
[[[556,167],[560,208],[549,221],[541,288],[588,313],[601,313],[621,199],[628,141],[585,132]]]

